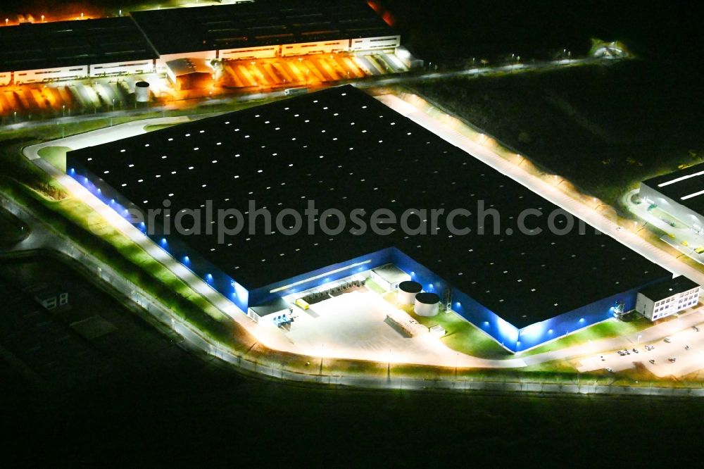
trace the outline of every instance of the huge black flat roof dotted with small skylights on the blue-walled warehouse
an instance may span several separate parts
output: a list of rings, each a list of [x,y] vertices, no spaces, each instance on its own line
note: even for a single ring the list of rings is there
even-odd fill
[[[484,201],[486,210],[501,214],[502,233],[508,227],[517,233],[524,209],[544,213],[527,220],[543,230],[539,235],[479,235],[478,217],[460,216],[455,225],[468,223],[469,235],[451,236],[441,223],[432,236],[404,235],[400,229],[387,236],[355,236],[348,232],[355,226],[351,221],[337,236],[319,228],[314,236],[305,230],[264,235],[259,220],[259,235],[243,233],[225,245],[218,245],[214,235],[185,239],[249,289],[396,246],[523,327],[668,275],[589,227],[585,235],[577,230],[551,234],[547,219],[555,206],[349,85],[70,156],[143,208],[161,208],[170,199],[172,213],[198,208],[207,199],[215,210],[244,213],[253,199],[276,215],[284,208],[303,211],[312,199],[320,211],[364,208],[368,223],[377,208],[396,214],[407,208],[478,213],[478,201]],[[489,225],[491,218],[486,220]]]

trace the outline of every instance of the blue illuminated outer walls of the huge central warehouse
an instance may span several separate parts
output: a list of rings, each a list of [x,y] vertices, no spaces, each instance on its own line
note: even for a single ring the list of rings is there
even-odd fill
[[[70,154],[67,156],[67,173],[123,217],[128,218],[128,208],[142,213],[139,207],[125,199],[124,196],[120,195],[118,191],[106,184],[101,178],[90,173],[80,163],[74,161]],[[199,256],[199,254],[189,248],[182,238],[175,235],[164,235],[163,230],[158,225],[151,227],[151,230],[147,230],[146,223],[134,223],[134,220],[129,221],[140,231],[144,232],[145,235],[148,235],[148,232],[153,232],[154,234],[148,236],[154,243],[198,275],[210,287],[230,299],[241,311],[247,311],[249,306],[262,304],[280,296],[315,288],[321,284],[339,280],[354,273],[393,263],[408,273],[413,280],[422,284],[426,292],[434,292],[442,296],[448,289],[451,292],[453,311],[495,339],[505,349],[513,352],[530,349],[583,327],[611,318],[613,316],[613,306],[617,301],[624,304],[624,311],[631,311],[635,308],[636,295],[639,289],[644,286],[614,294],[573,311],[518,328],[394,247],[328,265],[325,268],[303,273],[264,287],[248,289],[213,265],[213,263]]]

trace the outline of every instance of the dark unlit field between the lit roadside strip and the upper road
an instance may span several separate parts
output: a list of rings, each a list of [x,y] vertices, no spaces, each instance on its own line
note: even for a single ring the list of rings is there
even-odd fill
[[[698,77],[648,61],[413,88],[612,204],[643,179],[704,159]]]

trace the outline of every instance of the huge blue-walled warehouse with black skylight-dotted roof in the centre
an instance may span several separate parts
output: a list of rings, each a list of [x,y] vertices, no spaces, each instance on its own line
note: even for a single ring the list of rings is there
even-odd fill
[[[351,86],[70,151],[67,168],[123,215],[163,209],[168,199],[171,212],[140,229],[153,229],[156,243],[242,311],[393,264],[505,348],[522,351],[610,318],[617,304],[632,310],[641,287],[672,277],[589,227],[549,230],[555,206]],[[303,214],[310,201],[320,210],[315,221],[332,229],[339,221],[327,208],[367,217],[384,210],[397,220],[413,209],[419,218],[408,225],[420,228],[422,209],[483,206],[500,215],[501,230],[482,234],[489,221],[477,213],[455,219],[471,227],[464,235],[444,225],[426,235],[391,225],[360,234],[351,223],[308,234],[306,223],[292,232],[290,216],[277,228],[257,215],[253,233],[250,226],[222,242],[218,230],[208,234],[215,218],[200,235],[162,234],[194,208],[244,216],[267,208],[277,216]],[[544,215],[519,234],[513,224],[527,209]]]

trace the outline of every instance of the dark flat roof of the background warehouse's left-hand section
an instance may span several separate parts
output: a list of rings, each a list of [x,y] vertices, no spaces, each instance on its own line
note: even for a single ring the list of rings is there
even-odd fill
[[[2,72],[156,58],[127,17],[0,27],[0,44]]]

